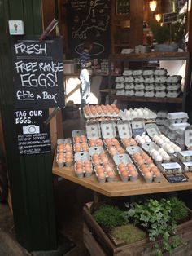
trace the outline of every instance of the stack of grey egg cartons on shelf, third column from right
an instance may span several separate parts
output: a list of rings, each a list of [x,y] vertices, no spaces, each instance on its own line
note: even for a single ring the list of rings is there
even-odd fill
[[[145,97],[154,97],[155,96],[155,86],[154,86],[154,70],[143,70],[142,76],[144,79],[145,85]]]

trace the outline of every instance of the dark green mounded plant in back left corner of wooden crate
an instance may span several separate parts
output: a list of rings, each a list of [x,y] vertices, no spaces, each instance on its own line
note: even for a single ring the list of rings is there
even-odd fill
[[[99,225],[106,228],[122,226],[125,223],[122,210],[113,205],[101,205],[93,216]]]

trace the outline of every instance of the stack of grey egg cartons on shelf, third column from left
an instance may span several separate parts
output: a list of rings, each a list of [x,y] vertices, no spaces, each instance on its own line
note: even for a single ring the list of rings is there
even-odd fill
[[[145,93],[144,79],[142,77],[142,69],[133,70],[133,79],[135,85],[135,96],[142,97]]]

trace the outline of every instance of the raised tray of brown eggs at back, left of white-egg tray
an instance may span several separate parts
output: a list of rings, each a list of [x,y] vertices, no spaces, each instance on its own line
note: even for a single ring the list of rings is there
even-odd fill
[[[119,108],[115,104],[107,105],[85,105],[84,114],[85,118],[95,117],[119,117]]]

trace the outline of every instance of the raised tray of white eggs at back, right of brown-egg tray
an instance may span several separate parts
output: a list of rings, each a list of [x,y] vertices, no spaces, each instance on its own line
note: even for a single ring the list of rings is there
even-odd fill
[[[146,120],[155,120],[156,114],[149,108],[129,108],[120,110],[120,118],[122,120],[133,120],[135,118],[143,118]]]

